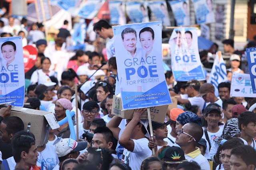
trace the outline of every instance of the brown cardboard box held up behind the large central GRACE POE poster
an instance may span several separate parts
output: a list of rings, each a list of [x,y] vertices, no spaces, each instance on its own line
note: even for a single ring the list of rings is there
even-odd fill
[[[150,107],[151,120],[157,121],[159,123],[164,123],[167,109],[168,109],[168,105]],[[122,107],[121,98],[118,96],[113,96],[112,112],[111,112],[112,115],[122,117],[123,119],[132,119],[133,112],[134,112],[134,109],[124,110]],[[148,119],[148,111],[145,111],[142,114],[141,119]]]

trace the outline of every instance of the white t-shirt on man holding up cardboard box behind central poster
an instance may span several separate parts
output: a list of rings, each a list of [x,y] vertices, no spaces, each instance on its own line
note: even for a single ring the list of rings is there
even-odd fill
[[[152,151],[148,148],[148,139],[132,139],[134,141],[133,152],[124,149],[122,162],[128,164],[132,170],[139,170],[144,159],[152,156]]]

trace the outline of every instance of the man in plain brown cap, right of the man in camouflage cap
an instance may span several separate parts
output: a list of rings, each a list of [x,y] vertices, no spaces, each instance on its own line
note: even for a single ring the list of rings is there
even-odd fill
[[[222,109],[222,100],[218,99],[214,94],[214,86],[210,83],[204,83],[199,90],[197,97],[203,97],[206,103],[216,103]]]

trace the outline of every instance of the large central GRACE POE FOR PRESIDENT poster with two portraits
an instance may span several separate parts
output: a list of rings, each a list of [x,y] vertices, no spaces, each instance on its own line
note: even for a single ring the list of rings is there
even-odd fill
[[[113,31],[123,108],[171,104],[162,60],[161,21],[113,26]]]

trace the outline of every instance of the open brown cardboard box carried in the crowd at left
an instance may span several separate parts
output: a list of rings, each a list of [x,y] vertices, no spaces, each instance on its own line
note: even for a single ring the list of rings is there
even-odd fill
[[[12,106],[10,116],[20,117],[24,123],[25,131],[28,128],[28,123],[31,124],[30,132],[35,135],[37,146],[42,146],[48,142],[50,127],[52,129],[60,127],[54,114],[46,111]]]

